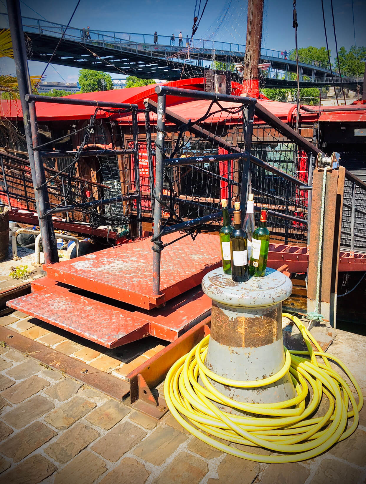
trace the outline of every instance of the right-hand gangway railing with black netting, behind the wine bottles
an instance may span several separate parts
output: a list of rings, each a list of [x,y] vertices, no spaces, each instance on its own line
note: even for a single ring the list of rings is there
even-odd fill
[[[245,212],[246,210],[247,188],[250,184],[251,191],[254,191],[255,197],[258,198],[261,205],[266,206],[269,209],[271,217],[274,219],[280,219],[284,222],[283,226],[280,228],[283,234],[285,234],[285,239],[286,233],[288,234],[291,226],[294,227],[293,231],[298,231],[301,227],[300,230],[303,234],[303,240],[304,243],[306,243],[306,227],[308,224],[307,214],[308,206],[310,206],[311,201],[311,193],[302,187],[307,187],[309,182],[308,175],[311,171],[312,165],[312,155],[318,154],[319,150],[289,128],[285,123],[279,121],[265,108],[256,105],[255,99],[202,91],[187,91],[167,86],[158,86],[155,91],[158,94],[158,103],[151,100],[146,100],[145,102],[145,107],[150,108],[157,114],[156,176],[153,193],[153,197],[155,198],[154,236],[152,239],[154,242],[153,294],[158,295],[160,290],[160,254],[161,250],[164,248],[161,239],[165,235],[174,232],[188,231],[187,233],[189,234],[190,230],[194,227],[202,227],[205,224],[221,220],[222,212],[219,209],[220,198],[224,193],[224,197],[228,198],[229,206],[231,206],[232,196],[234,196],[234,186],[236,187],[236,199],[240,200],[242,212]],[[207,123],[207,120],[211,119],[211,113],[209,110],[214,103],[226,101],[239,107],[235,111],[232,110],[229,115],[226,115],[226,120],[220,115],[220,121],[223,123],[223,127],[221,127],[223,134],[221,134],[222,132],[221,130],[218,131],[217,125],[215,125],[212,132],[210,132],[204,129],[202,125],[193,124],[191,121],[176,117],[173,111],[166,109],[166,97],[169,95],[189,96],[194,99],[206,100],[208,102],[211,101],[211,104],[207,103],[207,107],[209,106],[209,108],[206,115],[203,117],[205,119],[200,118],[200,121],[203,123]],[[221,105],[218,104],[218,107],[218,111],[216,110],[213,113],[213,116],[217,114],[217,112],[220,112]],[[217,109],[216,106],[215,109]],[[221,110],[221,114],[224,114],[225,111],[222,107]],[[238,116],[239,112],[240,114]],[[233,115],[233,113],[235,114]],[[253,154],[255,145],[258,147],[260,144],[260,136],[261,139],[263,138],[263,134],[258,135],[257,133],[256,136],[253,136],[255,114],[259,119],[270,125],[269,131],[276,131],[276,133],[278,133],[276,139],[272,136],[271,140],[269,140],[269,135],[265,135],[265,137],[267,136],[267,139],[263,140],[263,144],[267,144],[268,147],[270,147],[269,145],[275,145],[277,147],[277,149],[271,150],[270,155],[267,157],[267,161],[264,161],[259,156]],[[178,127],[178,132],[180,133],[176,140],[175,148],[174,146],[170,146],[168,149],[167,146],[166,140],[168,128],[165,126],[166,120],[169,121],[169,123],[175,123]],[[234,123],[236,124],[233,128]],[[230,129],[232,131],[234,129],[237,134],[243,134],[240,141],[240,143],[242,143],[241,146],[239,142],[233,144],[229,140],[229,137],[233,134],[230,133]],[[263,130],[263,128],[260,129]],[[197,142],[193,137],[191,137],[189,141],[184,140],[183,132],[187,133],[187,131],[199,136],[198,141],[202,142]],[[171,136],[171,139],[175,139],[174,136]],[[233,137],[230,139],[233,139]],[[279,147],[281,142],[287,143],[287,149]],[[290,142],[291,145],[289,144]],[[193,144],[195,144],[195,146],[207,146],[207,154],[204,154],[201,151],[199,155],[181,154],[179,157],[175,155],[175,153],[179,152],[184,153],[182,147],[191,147]],[[171,152],[170,155],[169,151]],[[288,156],[286,155],[286,151],[289,153]],[[268,153],[268,151],[266,152]],[[238,162],[237,169],[235,168],[236,161]],[[217,165],[224,165],[223,170],[220,169],[220,172],[216,172],[215,166]],[[293,166],[293,168],[291,168],[293,171],[289,170],[289,165]],[[254,166],[257,169],[254,177],[251,173],[252,168],[250,168],[250,166]],[[287,166],[287,169],[285,166]],[[186,186],[190,187],[190,191],[188,194],[187,192],[184,193],[182,188],[179,187],[182,175],[180,174],[177,176],[174,174],[174,170],[182,167],[189,168],[189,170],[184,172],[183,177],[189,172],[199,171],[201,173],[204,172],[205,175],[209,175],[211,177],[210,180],[221,180],[221,183],[219,184],[219,187],[221,187],[219,194],[215,192],[209,192],[206,195],[204,192],[197,194],[192,191],[194,187],[192,188],[192,183],[188,181]],[[164,186],[167,186],[164,185],[164,182],[166,180],[169,181],[171,186],[170,197],[164,197]],[[263,189],[264,191],[268,190],[267,185],[269,180],[271,180],[273,190],[279,191],[279,193],[276,194],[278,200],[276,197],[273,198],[271,193],[264,194],[263,192]],[[267,188],[264,188],[263,183],[266,184]],[[214,185],[210,184],[209,186],[212,187]],[[196,190],[197,188],[199,187],[196,187]],[[173,192],[176,193],[172,196]],[[166,201],[167,199],[168,201]],[[194,212],[190,211],[190,216],[186,216],[184,220],[183,218],[179,220],[178,217],[176,217],[176,214],[182,212],[180,210],[178,210],[178,212],[172,210],[172,207],[174,207],[175,204],[179,205],[179,200],[181,200],[184,205],[195,205],[197,207],[196,210],[198,215],[192,217]],[[279,203],[282,203],[282,205],[280,206]],[[173,223],[169,226],[167,224],[162,224],[164,218],[162,212],[166,210],[174,212],[173,216],[175,216],[175,221],[173,220]],[[256,211],[259,211],[259,207],[256,207]],[[230,209],[229,213],[232,213],[232,209]],[[305,227],[305,232],[302,227]],[[172,242],[169,242],[169,244],[170,243]]]

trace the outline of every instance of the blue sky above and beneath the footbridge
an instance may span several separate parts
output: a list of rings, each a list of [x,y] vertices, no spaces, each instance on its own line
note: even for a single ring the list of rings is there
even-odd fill
[[[202,5],[204,1],[201,1]],[[323,1],[333,59],[335,45],[330,0]],[[231,0],[230,8],[221,23],[220,19],[229,2],[230,0],[208,0],[196,33],[197,38],[213,38],[245,44],[247,1]],[[185,36],[191,33],[195,3],[195,0],[81,0],[70,25],[77,28],[89,25],[91,30],[123,32],[153,33],[157,30],[160,35],[171,35],[174,32],[176,36],[182,30]],[[341,45],[348,48],[354,44],[351,0],[334,0],[333,3],[338,48]],[[5,4],[5,0],[0,0],[0,12],[6,12]],[[23,16],[40,19],[44,17],[49,21],[67,24],[76,0],[63,2],[25,0],[21,1],[20,5]],[[262,47],[287,51],[294,47],[292,8],[292,0],[265,0]],[[366,45],[365,0],[353,0],[353,9],[356,45]],[[298,0],[297,13],[299,47],[325,45],[320,0]],[[4,17],[0,15],[0,26],[6,26],[4,21]],[[44,64],[40,62],[29,64],[31,75],[42,73]],[[0,68],[3,73],[14,73],[14,64],[10,60],[1,59]],[[55,68],[67,82],[77,80],[76,68],[58,65],[55,65]],[[46,75],[47,80],[62,81],[51,66],[48,67]],[[112,77],[121,76],[113,74]]]

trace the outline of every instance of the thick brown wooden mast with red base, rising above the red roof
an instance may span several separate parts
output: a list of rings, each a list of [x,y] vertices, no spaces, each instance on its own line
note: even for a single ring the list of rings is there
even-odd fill
[[[245,45],[243,93],[258,97],[260,47],[262,43],[264,0],[248,0],[247,40]]]

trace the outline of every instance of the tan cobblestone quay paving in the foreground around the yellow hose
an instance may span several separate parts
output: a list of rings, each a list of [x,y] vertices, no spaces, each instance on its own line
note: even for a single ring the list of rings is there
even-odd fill
[[[353,345],[362,363],[366,338],[356,347],[345,334],[347,348]],[[345,352],[345,344],[337,345]],[[349,363],[346,354],[340,357]],[[365,377],[360,378],[365,390]],[[284,465],[241,460],[194,438],[170,413],[156,422],[32,356],[0,346],[1,483],[361,484],[365,449],[364,409],[357,431],[315,459]]]

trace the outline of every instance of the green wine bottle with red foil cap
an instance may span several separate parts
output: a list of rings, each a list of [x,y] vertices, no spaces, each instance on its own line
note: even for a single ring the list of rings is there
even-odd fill
[[[259,225],[253,232],[252,255],[249,263],[249,273],[255,277],[263,277],[267,268],[268,250],[270,248],[270,231],[267,226],[267,210],[260,212]]]

